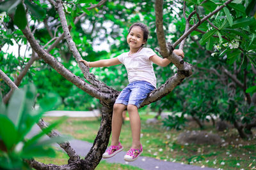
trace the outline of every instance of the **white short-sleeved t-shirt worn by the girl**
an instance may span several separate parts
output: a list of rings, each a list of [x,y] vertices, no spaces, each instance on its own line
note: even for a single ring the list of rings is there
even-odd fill
[[[127,70],[129,83],[133,81],[148,81],[156,87],[154,67],[152,66],[152,61],[149,60],[156,53],[151,48],[142,48],[132,56],[129,56],[128,53],[122,53],[117,58]]]

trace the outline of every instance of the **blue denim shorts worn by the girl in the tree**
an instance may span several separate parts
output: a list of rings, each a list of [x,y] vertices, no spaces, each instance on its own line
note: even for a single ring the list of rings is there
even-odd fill
[[[140,104],[147,98],[148,94],[155,87],[147,81],[134,81],[129,83],[125,89],[120,92],[115,103],[124,105],[133,104],[140,108]]]

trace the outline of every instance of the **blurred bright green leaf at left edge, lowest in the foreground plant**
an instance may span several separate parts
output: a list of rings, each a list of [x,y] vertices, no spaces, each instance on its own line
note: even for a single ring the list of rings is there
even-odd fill
[[[0,122],[0,138],[3,140],[7,150],[10,150],[17,143],[17,130],[13,122],[6,115],[0,115]]]

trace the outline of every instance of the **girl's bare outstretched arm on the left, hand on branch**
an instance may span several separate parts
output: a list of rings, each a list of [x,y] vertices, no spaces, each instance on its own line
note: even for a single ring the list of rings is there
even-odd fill
[[[115,65],[121,64],[121,62],[117,59],[117,57],[113,59],[97,60],[93,62],[88,62],[86,60],[79,60],[79,61],[83,62],[85,66],[88,66],[88,67],[109,67],[109,66],[115,66]]]

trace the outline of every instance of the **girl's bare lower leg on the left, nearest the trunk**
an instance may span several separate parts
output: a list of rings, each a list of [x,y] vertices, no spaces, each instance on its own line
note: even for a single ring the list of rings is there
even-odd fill
[[[114,104],[113,107],[113,116],[112,116],[112,138],[111,145],[118,145],[119,136],[122,128],[123,117],[122,113],[125,110],[126,106],[124,104]]]

